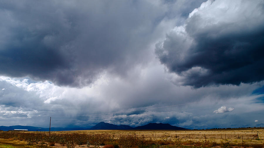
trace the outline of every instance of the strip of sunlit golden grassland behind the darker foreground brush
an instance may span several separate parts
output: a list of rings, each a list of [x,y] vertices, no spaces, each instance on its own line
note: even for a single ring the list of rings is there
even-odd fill
[[[32,133],[39,133],[39,132],[32,132]],[[48,133],[48,132],[45,132]],[[179,137],[180,139],[204,139],[205,138],[199,138],[199,136],[195,135],[201,135],[202,137],[204,134],[208,136],[208,139],[210,139],[211,135],[217,135],[216,138],[213,139],[230,139],[230,140],[238,140],[241,139],[244,136],[243,140],[247,140],[250,137],[246,137],[246,135],[257,135],[258,139],[264,139],[264,128],[243,128],[243,129],[216,129],[216,130],[76,130],[76,131],[53,131],[52,133],[56,134],[68,134],[68,133],[86,133],[86,134],[101,134],[101,133],[107,133],[111,136],[118,137],[120,135],[127,135],[132,134],[136,136],[142,136],[145,137],[153,137],[156,139],[162,139],[164,137],[170,138],[172,140],[177,140]],[[182,137],[181,135],[187,135],[185,137]],[[190,136],[189,136],[190,135]],[[218,136],[220,135],[220,137]],[[221,138],[222,135],[222,138]],[[229,135],[226,137],[226,135]],[[232,135],[232,136],[231,136]],[[178,137],[179,136],[179,137]],[[240,136],[240,137],[239,137]],[[252,137],[253,138],[253,137]],[[252,139],[251,138],[251,139]],[[262,140],[260,140],[262,141]]]

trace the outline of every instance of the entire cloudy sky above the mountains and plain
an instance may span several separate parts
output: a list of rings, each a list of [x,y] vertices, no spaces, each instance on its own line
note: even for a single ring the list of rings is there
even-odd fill
[[[263,0],[1,1],[0,20],[0,125],[264,126]]]

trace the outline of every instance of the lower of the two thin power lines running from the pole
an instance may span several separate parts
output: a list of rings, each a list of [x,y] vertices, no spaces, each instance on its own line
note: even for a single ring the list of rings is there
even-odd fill
[[[209,109],[212,107],[205,107],[205,108],[199,108],[199,109]],[[181,111],[192,111],[192,110],[198,110],[198,109],[187,109],[187,110],[181,110]],[[162,113],[175,113],[180,111],[168,111],[168,112],[162,112]],[[52,119],[52,120],[89,120],[89,119],[106,119],[106,118],[122,118],[122,117],[134,117],[134,116],[145,116],[145,115],[154,115],[154,114],[161,114],[161,113],[150,113],[150,114],[140,114],[140,115],[128,115],[128,116],[117,116],[117,117],[103,117],[103,118],[85,118],[85,119]]]

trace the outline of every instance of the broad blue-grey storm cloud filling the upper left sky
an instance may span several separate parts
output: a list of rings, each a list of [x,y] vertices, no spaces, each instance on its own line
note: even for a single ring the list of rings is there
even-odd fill
[[[126,75],[200,2],[2,1],[0,74],[74,87],[105,70]]]

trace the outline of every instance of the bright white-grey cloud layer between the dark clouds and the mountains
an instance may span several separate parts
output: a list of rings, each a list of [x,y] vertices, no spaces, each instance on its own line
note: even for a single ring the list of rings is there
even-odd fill
[[[155,73],[155,76],[149,77],[150,73]],[[57,127],[87,127],[104,121],[133,127],[148,123],[170,123],[190,129],[203,129],[248,127],[251,124],[250,121],[263,116],[263,104],[253,103],[256,98],[263,97],[263,95],[248,96],[259,87],[258,83],[191,89],[191,87],[178,87],[170,81],[164,81],[162,75],[165,73],[163,73],[162,66],[158,70],[142,70],[140,75],[140,77],[128,81],[106,74],[91,87],[83,88],[60,87],[48,81],[32,82],[30,79],[0,77],[0,85],[6,88],[4,91],[0,91],[0,111],[2,111],[0,125],[9,126],[19,123],[20,125],[48,127],[49,118],[52,116],[52,126]],[[136,79],[140,81],[135,81]],[[195,103],[151,110],[111,113],[190,102]],[[224,104],[236,106],[236,110],[233,110],[232,114],[213,113],[215,108],[213,106],[224,106]],[[163,113],[170,111],[180,112]],[[259,112],[261,113],[259,114]],[[111,114],[76,116],[97,113]],[[152,115],[141,116],[141,114]],[[133,115],[136,116],[133,117]],[[129,117],[109,118],[118,116]],[[242,116],[248,120],[243,121]],[[54,120],[76,118],[101,119]],[[229,121],[232,121],[232,125]],[[236,125],[233,125],[234,123]]]

